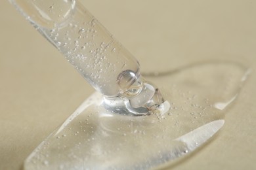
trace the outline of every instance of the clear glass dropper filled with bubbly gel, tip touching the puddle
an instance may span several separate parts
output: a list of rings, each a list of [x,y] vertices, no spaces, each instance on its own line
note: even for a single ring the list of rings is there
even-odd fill
[[[135,114],[148,112],[163,102],[158,90],[140,76],[137,59],[78,1],[10,1],[107,99],[129,99],[121,103],[141,108],[133,110]]]

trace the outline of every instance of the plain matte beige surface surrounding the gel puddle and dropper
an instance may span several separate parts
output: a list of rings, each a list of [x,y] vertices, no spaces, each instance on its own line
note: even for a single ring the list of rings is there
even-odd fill
[[[221,132],[173,169],[256,168],[256,1],[83,3],[139,59],[142,71],[212,59],[250,67]],[[93,89],[8,1],[0,2],[0,24],[0,169],[20,169]]]

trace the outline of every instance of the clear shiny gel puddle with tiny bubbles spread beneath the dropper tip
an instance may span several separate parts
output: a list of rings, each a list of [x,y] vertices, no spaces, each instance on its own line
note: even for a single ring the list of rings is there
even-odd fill
[[[247,75],[245,67],[232,62],[190,65],[158,76],[148,74],[146,78],[169,102],[171,108],[164,110],[165,114],[116,114],[104,109],[102,95],[95,93],[33,151],[24,169],[149,169],[170,165],[221,129],[226,107],[238,97]]]

